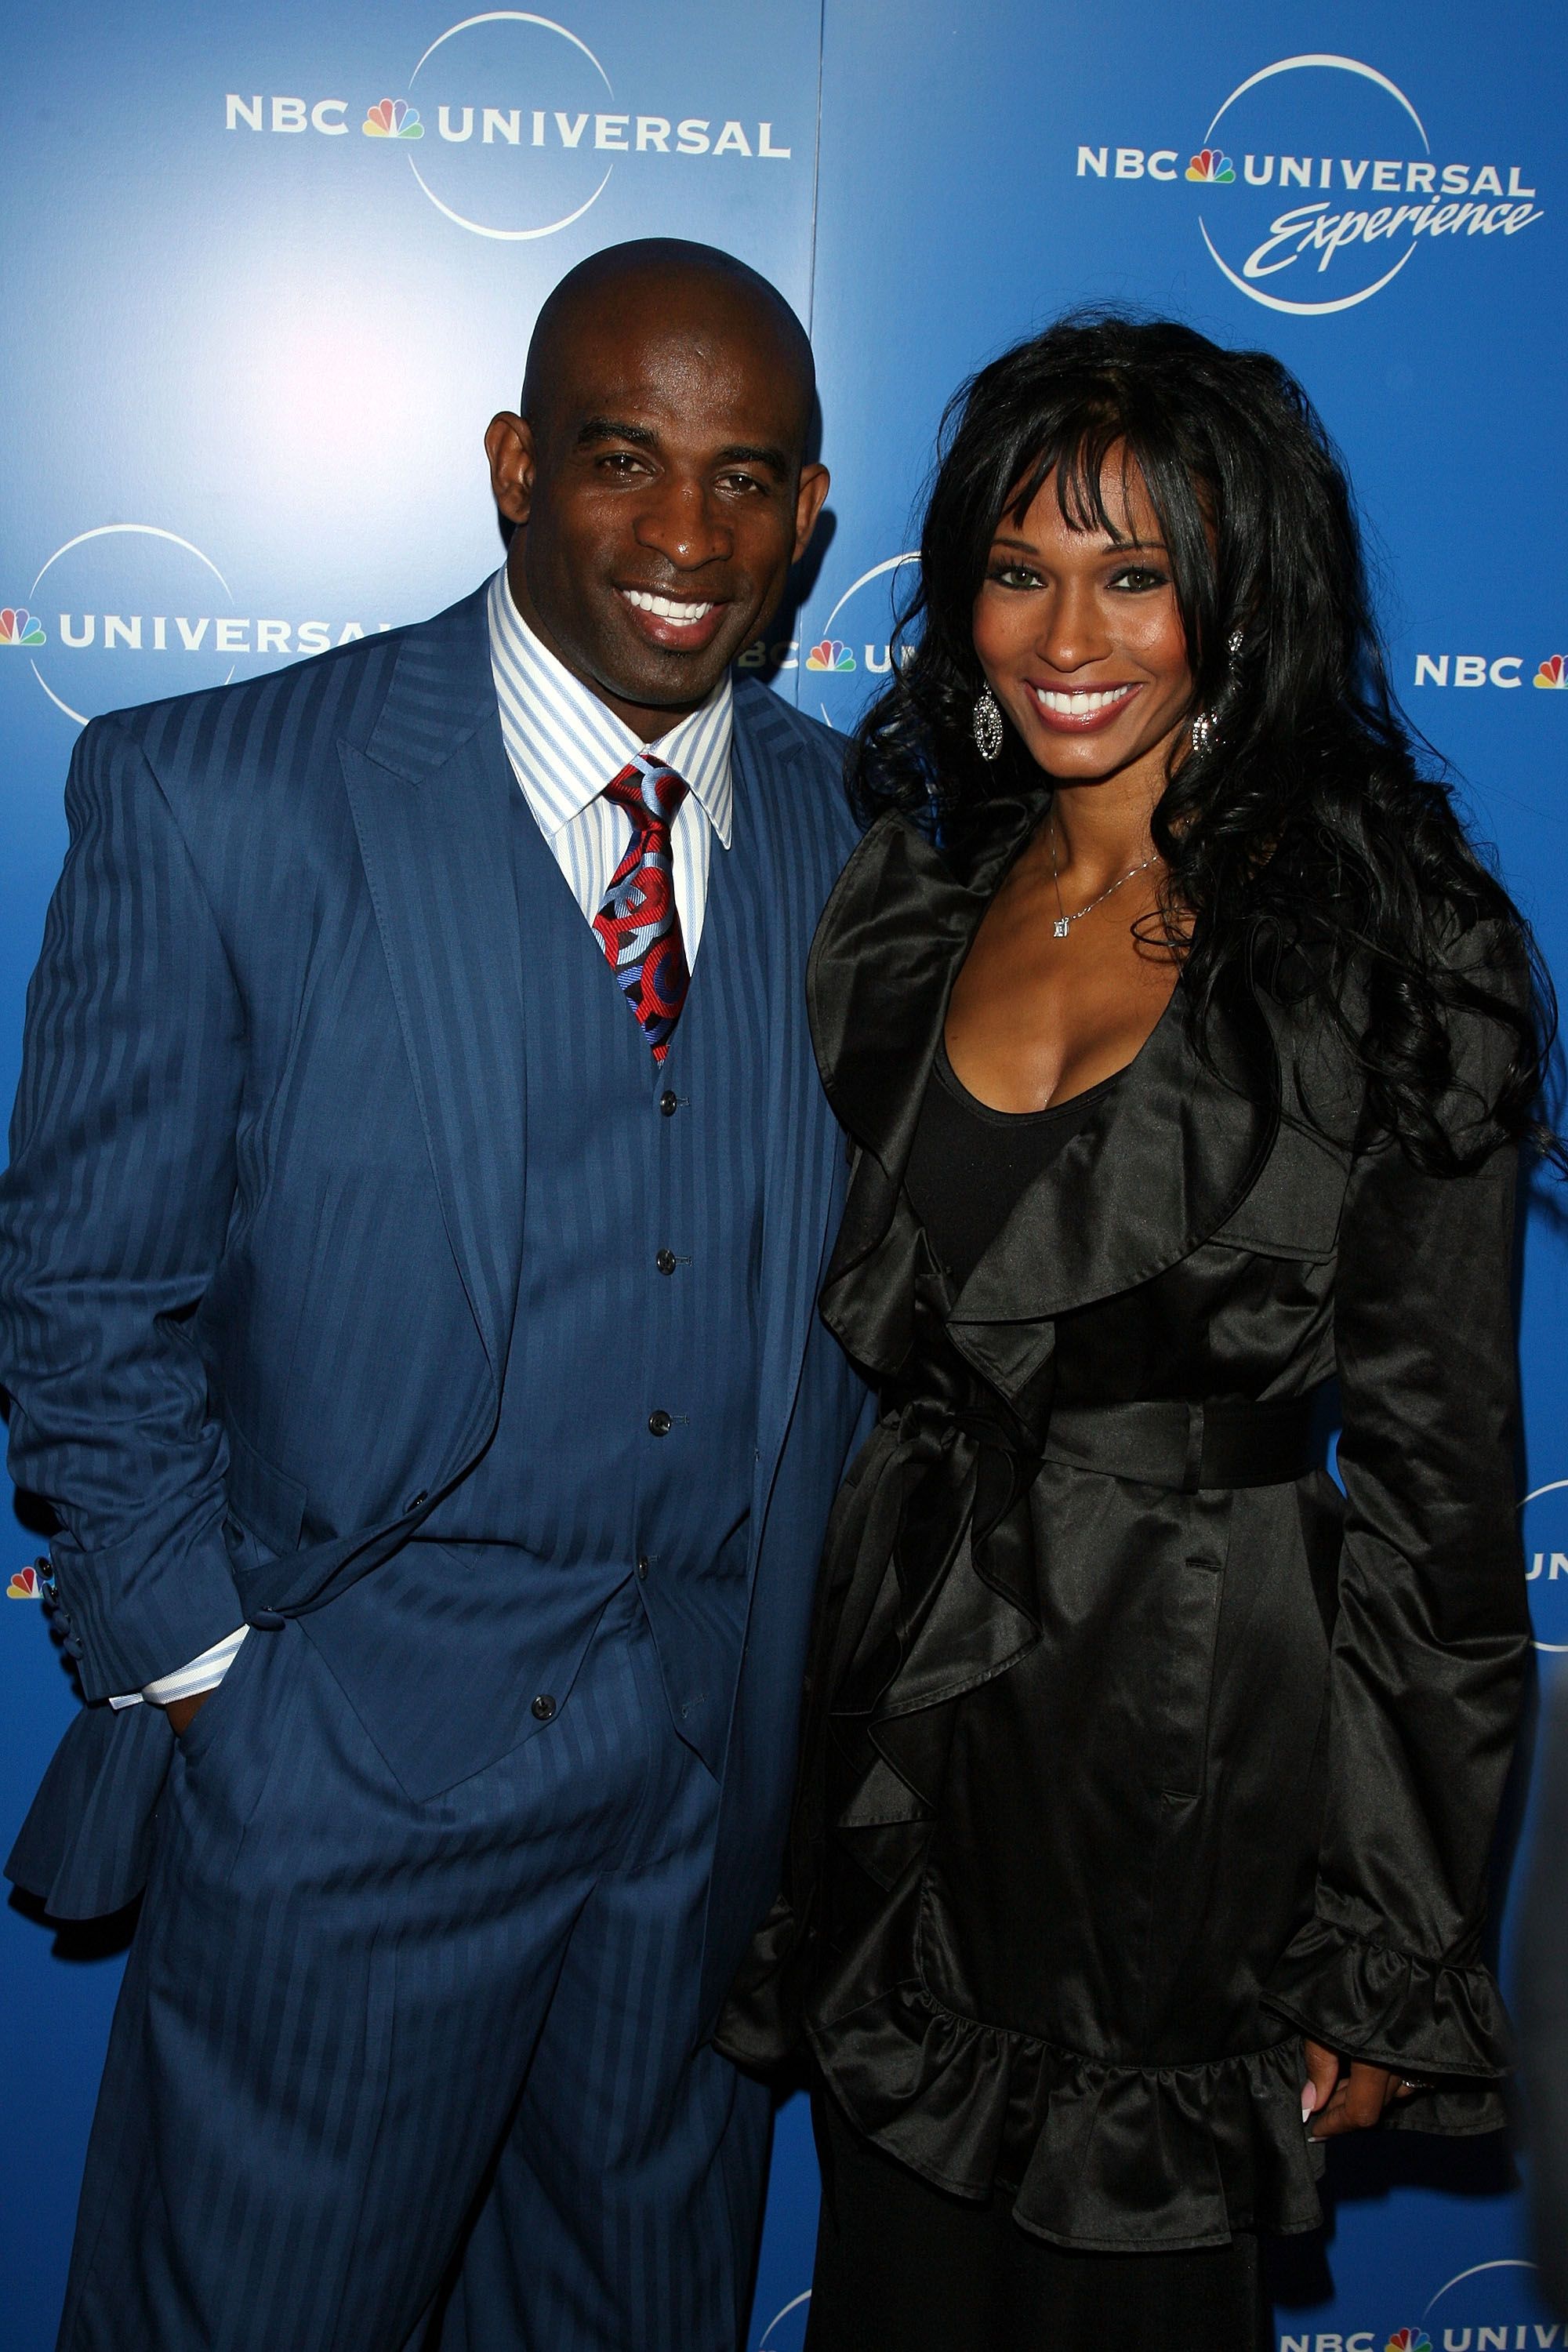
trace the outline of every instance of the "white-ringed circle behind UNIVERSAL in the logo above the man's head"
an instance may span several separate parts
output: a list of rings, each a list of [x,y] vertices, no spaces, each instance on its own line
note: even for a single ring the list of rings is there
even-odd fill
[[[487,9],[447,26],[376,136],[404,139],[437,212],[475,238],[524,242],[581,221],[628,151],[609,73],[552,16]],[[414,103],[418,101],[418,103]]]

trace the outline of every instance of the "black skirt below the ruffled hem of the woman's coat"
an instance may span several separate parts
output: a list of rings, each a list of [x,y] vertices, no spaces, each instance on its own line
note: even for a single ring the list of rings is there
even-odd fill
[[[950,2197],[813,2098],[823,2218],[806,2352],[1267,2352],[1258,2239],[1084,2253]]]

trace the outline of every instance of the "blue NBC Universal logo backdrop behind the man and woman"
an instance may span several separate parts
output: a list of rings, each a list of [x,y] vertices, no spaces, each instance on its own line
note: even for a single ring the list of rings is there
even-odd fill
[[[832,727],[886,670],[910,510],[971,367],[1086,299],[1276,350],[1349,456],[1399,691],[1568,983],[1554,0],[555,5],[9,14],[7,1103],[82,720],[416,619],[494,569],[480,435],[538,301],[654,230],[731,247],[811,325],[830,529],[766,659]],[[1521,1512],[1542,1682],[1568,1653],[1566,1275],[1540,1202]],[[35,1550],[5,1517],[7,1842],[73,1705]],[[45,2352],[120,1959],[0,1910],[0,1971],[2,2338]],[[1328,2227],[1281,2263],[1281,2352],[1563,2345],[1519,2164],[1500,2143],[1338,2150]],[[813,2220],[797,2100],[752,2352],[799,2347]]]

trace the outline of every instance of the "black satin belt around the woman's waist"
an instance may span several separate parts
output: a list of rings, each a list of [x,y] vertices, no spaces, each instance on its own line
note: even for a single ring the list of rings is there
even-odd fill
[[[1251,1404],[1154,1399],[1145,1404],[1058,1404],[1041,1461],[1140,1479],[1173,1494],[1199,1486],[1288,1486],[1326,1458],[1324,1388]]]

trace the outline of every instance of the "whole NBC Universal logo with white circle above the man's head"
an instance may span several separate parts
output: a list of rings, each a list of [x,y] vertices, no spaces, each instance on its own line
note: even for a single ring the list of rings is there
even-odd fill
[[[355,115],[350,99],[223,96],[223,127],[235,134],[343,139]],[[644,113],[618,99],[588,42],[529,9],[487,9],[447,26],[416,59],[407,96],[364,103],[360,132],[397,148],[449,221],[503,240],[550,238],[581,221],[618,158],[637,174],[792,158],[783,118],[722,113],[712,101]]]

